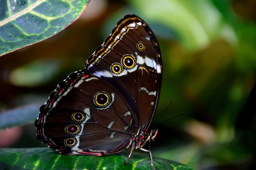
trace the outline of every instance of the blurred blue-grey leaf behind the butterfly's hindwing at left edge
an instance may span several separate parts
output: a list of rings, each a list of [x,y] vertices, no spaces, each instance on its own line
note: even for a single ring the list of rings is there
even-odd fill
[[[0,129],[35,122],[42,104],[29,104],[0,113]],[[1,167],[1,166],[0,166]]]

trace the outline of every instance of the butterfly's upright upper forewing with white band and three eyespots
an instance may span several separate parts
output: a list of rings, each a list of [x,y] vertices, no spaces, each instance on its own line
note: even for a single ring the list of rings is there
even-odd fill
[[[134,66],[127,65],[125,58],[133,59]],[[141,18],[129,15],[118,22],[85,69],[116,85],[138,116],[140,127],[147,131],[159,98],[161,63],[159,46],[150,27]],[[120,66],[119,72],[113,71],[115,64]]]

